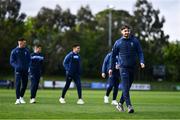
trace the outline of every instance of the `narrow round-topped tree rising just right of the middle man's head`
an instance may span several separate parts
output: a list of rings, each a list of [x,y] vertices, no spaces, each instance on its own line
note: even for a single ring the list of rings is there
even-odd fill
[[[89,6],[81,7],[77,12],[76,31],[81,44],[83,74],[94,77],[99,75],[102,52],[101,31],[96,29],[97,21]],[[97,52],[98,51],[98,52]],[[94,63],[96,60],[96,64]]]

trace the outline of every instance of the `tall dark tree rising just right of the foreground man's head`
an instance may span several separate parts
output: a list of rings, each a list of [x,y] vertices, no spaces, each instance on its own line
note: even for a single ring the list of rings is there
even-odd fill
[[[147,0],[137,0],[132,27],[135,35],[141,40],[147,63],[161,64],[162,48],[168,45],[169,36],[162,30],[165,18],[159,18],[159,10],[155,10]],[[152,54],[153,51],[153,54]],[[155,57],[158,56],[158,57]],[[154,59],[151,59],[154,58]]]

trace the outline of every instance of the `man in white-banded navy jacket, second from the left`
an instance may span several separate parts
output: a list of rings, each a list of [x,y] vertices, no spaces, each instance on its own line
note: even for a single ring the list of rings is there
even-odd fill
[[[39,86],[39,81],[42,73],[42,65],[44,57],[41,54],[42,46],[35,45],[34,53],[31,54],[30,61],[30,78],[31,78],[31,99],[30,103],[36,103],[36,93]]]

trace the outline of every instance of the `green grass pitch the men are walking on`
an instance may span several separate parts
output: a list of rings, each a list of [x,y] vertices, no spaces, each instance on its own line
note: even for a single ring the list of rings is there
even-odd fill
[[[68,90],[66,104],[59,103],[60,94],[57,89],[39,90],[37,103],[30,104],[27,90],[27,103],[14,105],[15,90],[0,89],[0,119],[180,119],[180,92],[131,91],[134,114],[104,104],[105,90],[83,90],[84,105],[76,104],[75,89]]]

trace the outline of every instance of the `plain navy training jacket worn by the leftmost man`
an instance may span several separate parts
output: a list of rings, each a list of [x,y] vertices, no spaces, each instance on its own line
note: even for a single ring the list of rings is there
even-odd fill
[[[15,71],[28,71],[30,63],[30,52],[28,48],[16,47],[11,51],[10,64]]]

